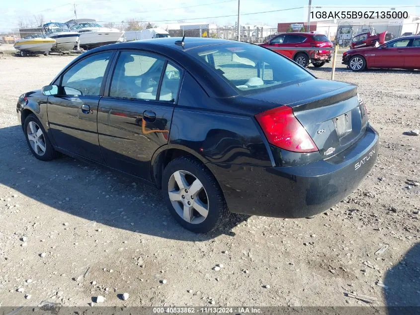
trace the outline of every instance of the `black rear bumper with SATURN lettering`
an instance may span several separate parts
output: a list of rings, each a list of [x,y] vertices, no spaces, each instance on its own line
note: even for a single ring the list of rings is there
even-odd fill
[[[207,165],[231,212],[306,217],[329,209],[357,188],[375,163],[378,138],[368,126],[364,136],[346,150],[300,166]]]

